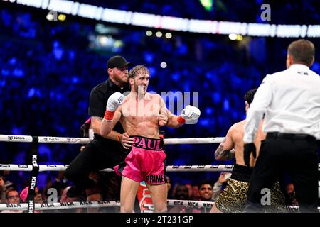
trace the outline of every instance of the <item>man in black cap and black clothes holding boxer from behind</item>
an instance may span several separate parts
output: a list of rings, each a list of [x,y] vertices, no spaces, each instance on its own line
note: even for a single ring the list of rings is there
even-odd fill
[[[119,164],[124,155],[124,148],[129,148],[133,143],[133,139],[124,133],[120,123],[117,123],[114,130],[105,137],[102,137],[99,132],[109,96],[114,92],[123,94],[130,91],[127,83],[128,66],[130,65],[133,65],[132,62],[127,62],[122,56],[111,57],[107,61],[109,79],[98,84],[90,93],[90,127],[95,134],[93,140],[65,170],[65,177],[75,184],[68,190],[69,197],[78,196],[83,190],[92,187],[93,182],[89,179],[90,172]]]

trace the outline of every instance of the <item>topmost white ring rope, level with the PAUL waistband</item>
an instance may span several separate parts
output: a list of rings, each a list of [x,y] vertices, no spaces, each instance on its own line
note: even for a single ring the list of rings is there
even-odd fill
[[[70,137],[50,137],[38,136],[38,143],[67,143],[67,144],[85,144],[90,143],[90,138],[70,138]],[[208,137],[208,138],[171,138],[164,139],[164,144],[204,144],[204,143],[221,143],[224,137]],[[25,142],[31,143],[31,135],[0,135],[2,142]]]

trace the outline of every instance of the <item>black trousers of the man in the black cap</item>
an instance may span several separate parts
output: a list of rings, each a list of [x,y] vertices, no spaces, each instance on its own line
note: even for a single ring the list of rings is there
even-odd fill
[[[120,143],[115,143],[95,137],[70,163],[65,170],[65,177],[73,181],[79,189],[92,187],[90,172],[112,168],[122,160],[124,149]]]

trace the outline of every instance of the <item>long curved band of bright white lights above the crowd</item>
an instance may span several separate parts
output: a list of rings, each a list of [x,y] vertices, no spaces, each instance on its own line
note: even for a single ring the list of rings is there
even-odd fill
[[[202,0],[210,6],[210,0]],[[12,1],[11,1],[12,3]],[[207,4],[208,3],[208,4]],[[241,23],[232,21],[208,21],[174,16],[159,16],[117,9],[102,8],[74,1],[18,0],[21,4],[44,10],[80,16],[96,21],[142,26],[146,28],[186,31],[191,33],[211,33],[228,35],[230,33],[266,37],[320,37],[320,25],[275,25],[267,23]]]

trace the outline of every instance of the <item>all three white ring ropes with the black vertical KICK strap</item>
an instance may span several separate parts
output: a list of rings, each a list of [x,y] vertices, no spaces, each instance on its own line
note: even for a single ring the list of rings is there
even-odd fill
[[[223,137],[216,138],[165,138],[164,145],[178,144],[212,144],[221,143]],[[31,180],[27,202],[21,204],[0,204],[1,210],[28,210],[28,213],[34,213],[35,210],[55,210],[55,209],[77,209],[77,208],[102,208],[120,206],[119,201],[73,201],[64,203],[44,203],[34,204],[34,187],[38,172],[44,171],[65,171],[68,165],[38,165],[38,143],[60,143],[60,144],[86,144],[90,143],[90,138],[65,138],[65,137],[48,137],[48,136],[31,136],[31,135],[0,135],[0,142],[11,143],[32,143],[31,162],[32,165],[0,164],[0,170],[9,171],[27,171],[31,172]],[[233,165],[167,165],[166,172],[230,172]],[[320,171],[320,163],[318,164]],[[114,172],[112,169],[100,170],[102,172]],[[193,201],[193,200],[175,200],[168,199],[169,206],[188,206],[211,208],[214,202],[210,201]],[[288,211],[299,211],[299,206],[287,206]],[[318,207],[320,211],[320,207]]]

